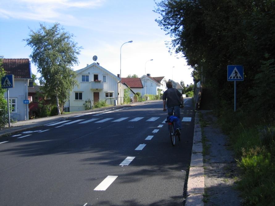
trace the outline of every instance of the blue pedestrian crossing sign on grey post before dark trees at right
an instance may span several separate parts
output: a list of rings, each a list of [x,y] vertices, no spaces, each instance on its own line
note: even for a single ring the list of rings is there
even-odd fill
[[[236,81],[244,81],[244,67],[227,65],[227,81],[234,81],[234,111],[236,111]]]

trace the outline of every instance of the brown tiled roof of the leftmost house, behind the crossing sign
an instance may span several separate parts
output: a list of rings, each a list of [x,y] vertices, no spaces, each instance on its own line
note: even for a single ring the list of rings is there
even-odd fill
[[[31,79],[31,64],[29,59],[2,60],[2,67],[7,75],[14,75],[14,78]]]

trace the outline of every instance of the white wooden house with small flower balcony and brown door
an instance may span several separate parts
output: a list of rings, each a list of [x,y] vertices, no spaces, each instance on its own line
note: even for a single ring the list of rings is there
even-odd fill
[[[70,93],[67,103],[70,112],[85,110],[85,101],[90,101],[91,105],[101,100],[109,105],[114,105],[115,100],[120,101],[120,78],[110,71],[92,63],[76,72],[79,87],[75,86]]]

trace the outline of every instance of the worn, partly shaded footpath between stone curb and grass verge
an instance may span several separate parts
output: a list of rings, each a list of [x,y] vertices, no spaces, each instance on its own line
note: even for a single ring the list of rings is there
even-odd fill
[[[209,110],[201,110],[202,139],[204,142],[204,205],[239,206],[241,198],[235,189],[238,179],[234,153],[229,138],[218,127],[217,118]]]

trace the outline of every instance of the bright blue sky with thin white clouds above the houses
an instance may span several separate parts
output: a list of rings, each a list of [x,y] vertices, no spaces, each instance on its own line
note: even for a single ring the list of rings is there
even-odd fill
[[[37,31],[40,23],[49,28],[58,22],[83,47],[73,70],[93,63],[96,55],[100,66],[114,75],[121,69],[122,77],[151,74],[184,81],[185,86],[194,84],[192,69],[182,55],[169,53],[165,42],[171,38],[155,21],[160,17],[155,8],[153,0],[0,1],[0,56],[30,58],[31,47],[23,39],[29,38],[31,30]],[[128,41],[133,42],[123,45]],[[31,71],[40,77],[33,63]]]

